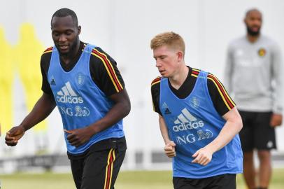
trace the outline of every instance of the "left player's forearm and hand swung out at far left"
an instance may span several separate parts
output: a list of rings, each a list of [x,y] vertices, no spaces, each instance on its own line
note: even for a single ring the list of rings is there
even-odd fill
[[[48,117],[52,110],[55,109],[55,106],[55,100],[52,95],[43,92],[41,98],[38,99],[38,102],[36,102],[34,108],[27,117],[24,118],[22,123],[7,132],[5,137],[6,144],[8,146],[17,145],[17,141],[22,138],[24,132]]]

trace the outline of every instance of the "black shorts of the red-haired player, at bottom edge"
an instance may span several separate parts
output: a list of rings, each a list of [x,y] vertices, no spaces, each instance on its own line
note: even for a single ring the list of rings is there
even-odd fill
[[[173,177],[174,189],[236,189],[236,174],[221,174],[204,179]]]

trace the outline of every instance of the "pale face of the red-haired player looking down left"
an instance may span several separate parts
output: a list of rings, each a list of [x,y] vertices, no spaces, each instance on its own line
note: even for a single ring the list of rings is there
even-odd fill
[[[159,48],[155,48],[153,53],[159,73],[166,78],[173,77],[178,71],[180,62],[179,52],[163,45]]]

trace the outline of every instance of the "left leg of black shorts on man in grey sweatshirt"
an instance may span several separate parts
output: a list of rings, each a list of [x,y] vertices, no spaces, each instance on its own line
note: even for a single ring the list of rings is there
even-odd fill
[[[253,151],[254,148],[254,128],[253,128],[253,116],[254,113],[248,111],[239,111],[241,119],[243,120],[243,128],[239,132],[241,140],[241,148],[243,152]]]

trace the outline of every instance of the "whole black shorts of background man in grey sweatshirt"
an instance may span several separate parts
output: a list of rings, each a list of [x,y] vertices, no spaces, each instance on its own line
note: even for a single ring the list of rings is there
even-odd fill
[[[239,111],[243,128],[239,133],[243,152],[276,148],[275,129],[270,126],[271,112]]]

